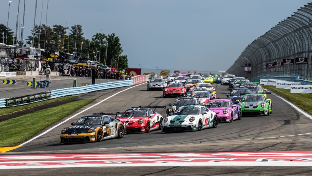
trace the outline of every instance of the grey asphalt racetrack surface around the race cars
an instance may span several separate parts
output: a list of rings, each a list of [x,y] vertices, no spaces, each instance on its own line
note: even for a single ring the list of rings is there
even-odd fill
[[[226,88],[227,86],[218,85],[217,96],[224,97],[224,94],[228,93]],[[124,89],[126,88],[86,94],[84,95],[85,98],[97,99],[77,112]],[[235,120],[232,123],[220,123],[215,129],[169,134],[155,130],[145,134],[126,134],[122,139],[109,139],[97,143],[59,144],[60,131],[82,115],[99,112],[121,112],[131,106],[168,105],[174,102],[175,98],[162,98],[161,91],[146,91],[146,84],[143,84],[115,95],[47,134],[5,154],[311,150],[312,134],[306,133],[312,132],[312,120],[300,114],[275,95],[268,95],[268,98],[271,98],[273,105],[271,115],[243,117],[242,120]],[[165,110],[156,111],[165,116]],[[2,173],[9,173],[9,175],[93,175],[100,173],[105,173],[105,175],[311,175],[312,173],[312,169],[309,167],[282,166],[173,166],[131,167],[130,169],[129,167],[14,169],[2,170]]]

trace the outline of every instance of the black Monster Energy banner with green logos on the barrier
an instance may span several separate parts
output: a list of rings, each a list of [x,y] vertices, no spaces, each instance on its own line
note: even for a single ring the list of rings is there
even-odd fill
[[[32,95],[25,95],[15,98],[8,98],[6,100],[6,106],[22,105],[25,103],[32,103],[34,101],[45,100],[51,98],[51,92],[41,92]]]

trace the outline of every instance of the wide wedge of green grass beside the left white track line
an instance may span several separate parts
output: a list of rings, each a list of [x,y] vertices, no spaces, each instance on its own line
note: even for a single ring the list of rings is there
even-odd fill
[[[17,146],[94,100],[74,101],[0,122],[0,147]]]

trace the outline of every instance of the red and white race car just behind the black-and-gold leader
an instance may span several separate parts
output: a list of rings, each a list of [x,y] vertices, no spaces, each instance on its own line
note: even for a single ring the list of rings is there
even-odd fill
[[[117,119],[125,125],[127,132],[148,133],[151,130],[161,129],[163,116],[155,112],[156,108],[166,109],[166,106],[131,107]]]

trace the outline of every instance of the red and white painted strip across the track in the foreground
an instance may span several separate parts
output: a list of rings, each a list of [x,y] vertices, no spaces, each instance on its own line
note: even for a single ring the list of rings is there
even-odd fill
[[[118,166],[312,166],[312,151],[0,155],[0,169]]]

